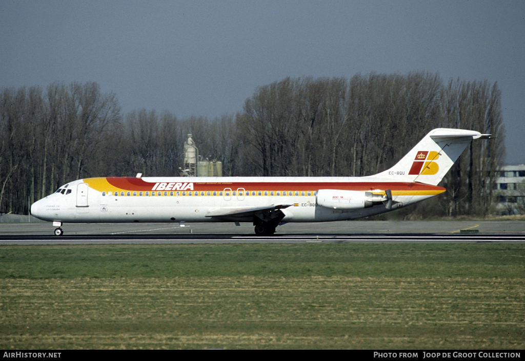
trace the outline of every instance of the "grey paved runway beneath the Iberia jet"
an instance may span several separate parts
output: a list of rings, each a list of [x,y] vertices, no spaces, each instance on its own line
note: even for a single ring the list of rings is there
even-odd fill
[[[0,245],[108,245],[200,243],[439,243],[525,240],[523,221],[346,221],[286,224],[257,237],[249,224],[66,224],[53,236],[45,222],[0,224]]]

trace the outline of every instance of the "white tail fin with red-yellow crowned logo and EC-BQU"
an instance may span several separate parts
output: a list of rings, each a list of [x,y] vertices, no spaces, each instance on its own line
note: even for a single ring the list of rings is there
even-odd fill
[[[376,176],[401,182],[437,185],[473,139],[489,137],[490,134],[471,130],[434,129],[401,161]]]

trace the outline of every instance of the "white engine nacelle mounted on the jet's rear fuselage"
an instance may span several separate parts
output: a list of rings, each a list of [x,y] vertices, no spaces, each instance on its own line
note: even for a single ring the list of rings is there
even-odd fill
[[[317,191],[317,204],[321,207],[352,210],[372,207],[374,204],[387,200],[382,195],[360,190],[319,189]]]

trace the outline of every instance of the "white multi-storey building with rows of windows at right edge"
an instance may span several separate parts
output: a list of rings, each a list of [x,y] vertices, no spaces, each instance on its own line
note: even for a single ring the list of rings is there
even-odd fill
[[[495,189],[497,214],[525,214],[525,164],[503,166]]]

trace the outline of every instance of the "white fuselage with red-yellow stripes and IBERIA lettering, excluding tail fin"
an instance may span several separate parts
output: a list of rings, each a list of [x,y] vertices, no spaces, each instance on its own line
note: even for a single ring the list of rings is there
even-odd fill
[[[444,190],[374,177],[87,178],[62,186],[57,193],[37,201],[31,206],[31,214],[58,222],[251,222],[251,215],[229,212],[288,205],[282,209],[283,222],[316,222],[354,219],[391,210],[385,209],[381,201],[367,208],[320,206],[319,189],[352,190],[363,195],[369,192],[377,196],[392,189],[392,209]]]

